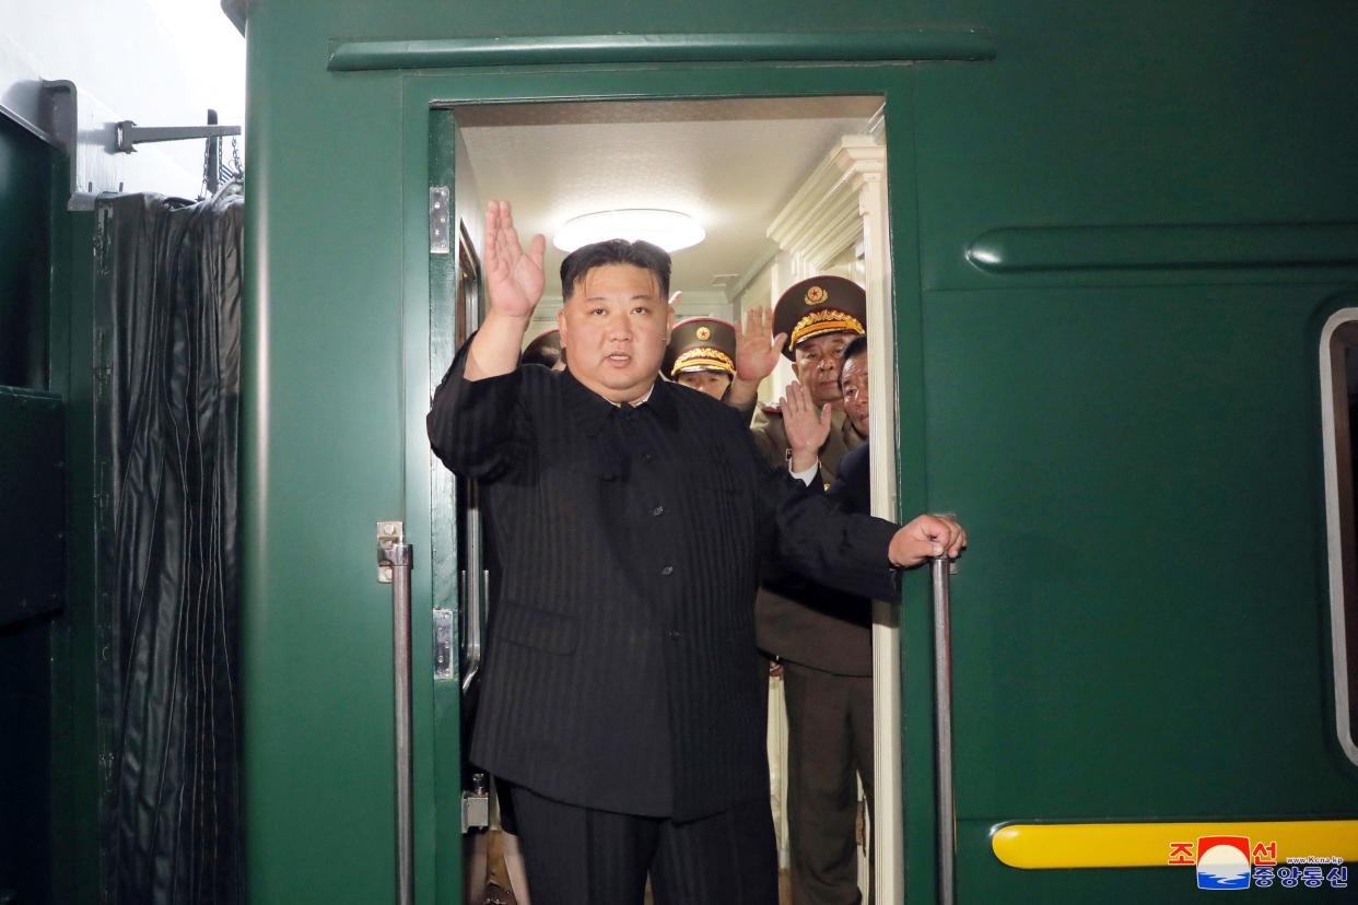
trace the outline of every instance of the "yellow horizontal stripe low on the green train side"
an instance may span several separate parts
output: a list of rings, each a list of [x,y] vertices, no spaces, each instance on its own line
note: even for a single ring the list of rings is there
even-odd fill
[[[1176,843],[1199,836],[1248,836],[1278,843],[1289,858],[1358,862],[1358,820],[1259,821],[1240,824],[1008,824],[990,834],[995,858],[1024,870],[1070,867],[1172,867]]]

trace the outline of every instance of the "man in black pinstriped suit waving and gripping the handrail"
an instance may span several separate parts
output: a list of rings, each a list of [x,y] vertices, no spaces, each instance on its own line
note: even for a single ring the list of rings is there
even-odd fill
[[[562,263],[568,369],[519,368],[542,296],[509,205],[486,212],[490,309],[435,392],[429,438],[481,483],[501,575],[471,760],[515,784],[539,905],[777,902],[759,563],[870,597],[960,552],[952,521],[846,516],[769,468],[736,412],[657,381],[669,259],[646,243]]]

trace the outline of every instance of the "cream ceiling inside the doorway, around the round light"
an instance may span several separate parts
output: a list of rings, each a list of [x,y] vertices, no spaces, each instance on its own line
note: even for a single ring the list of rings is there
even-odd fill
[[[671,289],[722,293],[773,251],[765,229],[845,134],[868,130],[880,98],[588,102],[458,109],[482,198],[508,198],[520,237],[615,208],[665,208],[708,231],[674,255]],[[724,300],[724,296],[722,296]]]

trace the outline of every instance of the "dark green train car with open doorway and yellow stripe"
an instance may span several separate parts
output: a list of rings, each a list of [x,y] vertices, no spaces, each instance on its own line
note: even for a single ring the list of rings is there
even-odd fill
[[[876,901],[1195,902],[1213,837],[1243,901],[1358,897],[1358,7],[223,5],[250,902],[466,897],[479,539],[425,412],[481,204],[532,182],[475,140],[554,125],[532,152],[644,186],[631,149],[722,117],[866,123],[824,185],[864,231],[875,505],[971,537],[877,608]]]

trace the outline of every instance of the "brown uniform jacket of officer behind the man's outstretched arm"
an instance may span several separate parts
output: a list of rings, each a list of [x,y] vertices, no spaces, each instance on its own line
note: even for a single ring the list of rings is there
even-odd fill
[[[843,411],[832,412],[820,446],[820,475],[828,490],[841,460],[866,441]],[[788,431],[782,415],[760,408],[750,427],[767,461],[786,469]],[[894,598],[894,597],[892,597]],[[838,676],[872,674],[872,606],[862,597],[824,588],[777,567],[766,570],[755,608],[759,649]]]

